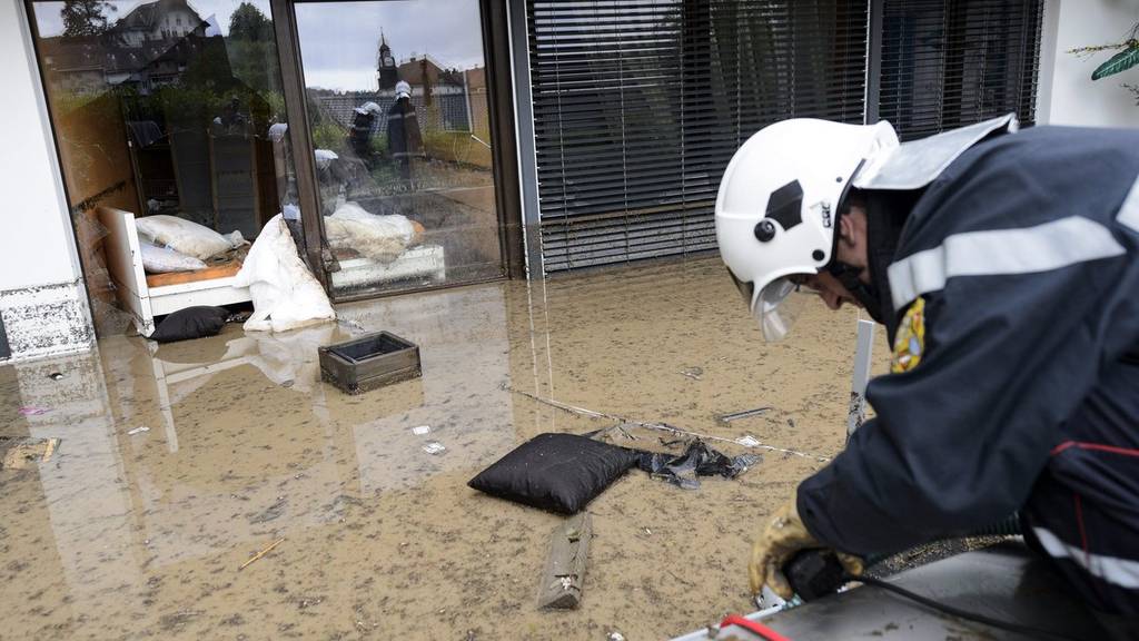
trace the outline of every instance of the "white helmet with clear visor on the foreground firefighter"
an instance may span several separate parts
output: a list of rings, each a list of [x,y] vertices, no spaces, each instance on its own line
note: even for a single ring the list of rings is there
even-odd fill
[[[767,340],[787,334],[795,291],[786,277],[830,262],[835,217],[859,167],[898,147],[888,122],[794,119],[763,128],[736,152],[720,182],[720,255]]]

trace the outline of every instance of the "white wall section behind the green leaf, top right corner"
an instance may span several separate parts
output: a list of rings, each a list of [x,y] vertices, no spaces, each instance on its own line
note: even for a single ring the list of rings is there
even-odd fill
[[[1133,94],[1120,87],[1139,84],[1139,67],[1092,81],[1091,72],[1112,56],[1091,58],[1068,49],[1121,42],[1139,22],[1139,0],[1048,0],[1040,49],[1036,121],[1041,124],[1139,127]]]

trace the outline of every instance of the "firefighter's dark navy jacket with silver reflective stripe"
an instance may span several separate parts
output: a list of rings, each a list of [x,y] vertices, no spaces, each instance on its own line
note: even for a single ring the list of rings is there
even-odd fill
[[[1019,510],[1070,578],[1124,586],[1098,606],[1139,614],[1137,176],[1139,131],[1041,127],[929,185],[887,270],[899,373],[800,486],[816,537],[895,552]]]

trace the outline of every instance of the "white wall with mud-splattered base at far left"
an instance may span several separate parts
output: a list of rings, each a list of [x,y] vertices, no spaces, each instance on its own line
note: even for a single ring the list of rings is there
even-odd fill
[[[13,359],[85,349],[91,320],[21,0],[0,0],[0,317]]]

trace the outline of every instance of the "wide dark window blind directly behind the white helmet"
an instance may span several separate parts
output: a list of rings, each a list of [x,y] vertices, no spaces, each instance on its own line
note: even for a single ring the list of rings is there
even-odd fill
[[[548,271],[713,250],[720,177],[752,133],[863,119],[865,1],[526,9]]]

